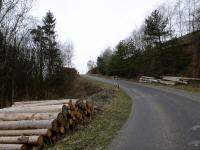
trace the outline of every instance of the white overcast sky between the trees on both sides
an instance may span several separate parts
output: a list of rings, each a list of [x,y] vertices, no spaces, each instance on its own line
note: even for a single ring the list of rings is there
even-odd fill
[[[48,10],[54,13],[59,40],[73,42],[74,66],[85,73],[88,60],[96,60],[105,48],[129,36],[164,1],[37,0],[31,14],[42,19]]]

